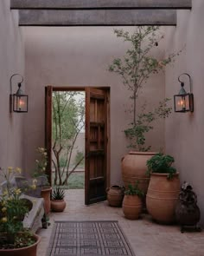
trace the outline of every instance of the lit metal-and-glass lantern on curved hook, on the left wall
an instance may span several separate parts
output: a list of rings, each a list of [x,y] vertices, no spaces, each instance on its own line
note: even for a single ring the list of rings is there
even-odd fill
[[[27,113],[28,112],[28,102],[29,102],[29,96],[24,95],[22,92],[22,82],[23,82],[23,77],[22,75],[22,81],[18,82],[18,89],[16,91],[16,94],[12,94],[12,78],[15,75],[20,75],[20,74],[14,74],[11,75],[10,77],[10,113],[12,112],[17,112],[17,113]]]

